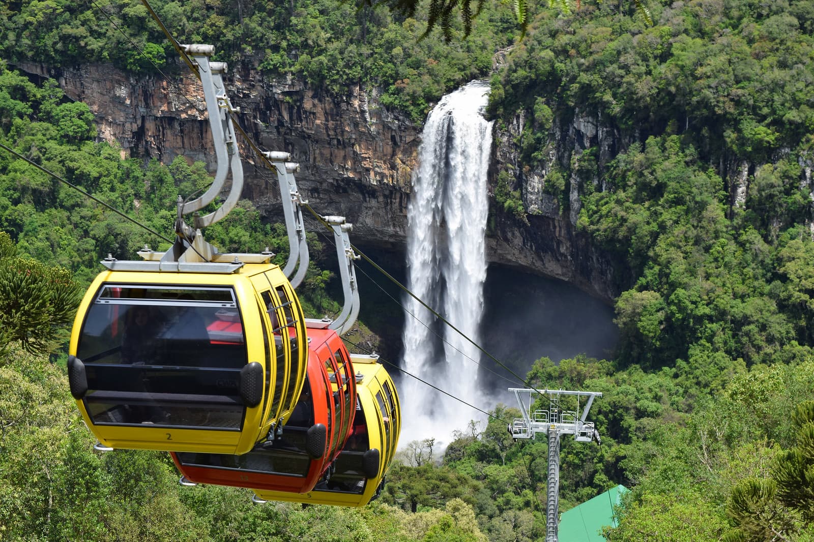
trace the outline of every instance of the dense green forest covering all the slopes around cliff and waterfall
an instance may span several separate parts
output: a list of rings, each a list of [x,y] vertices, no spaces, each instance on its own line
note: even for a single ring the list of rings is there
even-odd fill
[[[101,6],[162,70],[180,69],[140,2]],[[222,59],[326,92],[377,85],[414,120],[486,76],[518,35],[497,3],[449,44],[418,40],[420,12],[329,0],[155,6],[182,42],[214,42]],[[563,216],[576,192],[578,228],[619,264],[615,356],[542,358],[528,375],[604,394],[592,409],[602,447],[562,444],[561,510],[623,483],[632,492],[608,540],[811,541],[814,2],[648,6],[652,26],[623,4],[583,2],[569,16],[532,6],[527,35],[492,76],[489,113],[521,160],[500,172],[496,212],[533,227],[523,181],[545,171]],[[0,2],[0,13],[0,142],[170,231],[175,196],[207,181],[202,165],[121,160],[95,142],[84,104],[11,69],[111,62],[138,76],[152,63],[94,6]],[[562,148],[582,116],[610,134],[605,147]],[[99,259],[160,240],[3,151],[0,231],[0,540],[544,537],[546,444],[513,443],[505,422],[516,413],[502,405],[444,453],[431,441],[406,448],[361,510],[252,506],[243,491],[178,487],[166,454],[93,452],[59,363],[66,314]],[[248,202],[207,235],[286,256],[282,229]],[[37,289],[54,277],[61,287]],[[316,268],[309,278],[306,303],[326,279]],[[41,308],[21,311],[24,294]]]

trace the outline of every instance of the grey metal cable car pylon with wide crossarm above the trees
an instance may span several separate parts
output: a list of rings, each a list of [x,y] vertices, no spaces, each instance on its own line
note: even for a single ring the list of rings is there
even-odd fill
[[[549,396],[549,409],[536,409],[532,412],[532,394],[537,390],[510,387],[520,406],[523,417],[514,418],[509,432],[514,439],[533,439],[538,433],[545,433],[549,440],[549,468],[545,506],[545,542],[558,542],[559,525],[559,455],[560,435],[574,435],[577,442],[600,442],[599,433],[593,422],[586,422],[588,412],[595,397],[602,397],[599,391],[540,390],[540,394]],[[562,396],[575,396],[576,409],[560,408]],[[588,401],[580,413],[580,399]]]

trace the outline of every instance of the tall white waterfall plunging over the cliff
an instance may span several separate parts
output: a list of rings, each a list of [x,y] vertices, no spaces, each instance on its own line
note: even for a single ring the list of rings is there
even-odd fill
[[[487,84],[473,81],[444,96],[427,116],[407,208],[407,286],[475,343],[486,279],[492,123],[482,112],[488,90]],[[406,296],[405,310],[401,367],[483,408],[479,350],[412,297]],[[483,417],[414,378],[401,382],[403,445],[427,438],[449,444],[453,431],[464,431],[470,420]]]

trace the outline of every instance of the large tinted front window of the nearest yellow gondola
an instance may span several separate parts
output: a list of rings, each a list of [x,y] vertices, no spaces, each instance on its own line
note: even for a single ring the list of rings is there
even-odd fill
[[[94,423],[239,431],[243,325],[230,288],[105,285],[77,347]]]

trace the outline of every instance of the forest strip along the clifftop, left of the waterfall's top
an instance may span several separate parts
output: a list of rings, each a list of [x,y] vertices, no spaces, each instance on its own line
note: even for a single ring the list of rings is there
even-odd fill
[[[179,42],[214,44],[215,59],[229,61],[233,70],[242,63],[268,76],[300,76],[335,93],[376,85],[383,104],[418,122],[445,91],[487,73],[494,50],[517,34],[511,10],[489,3],[479,15],[484,24],[450,44],[437,37],[419,41],[426,23],[352,2],[151,3]],[[0,2],[0,36],[0,58],[11,63],[180,69],[173,46],[139,0]]]

